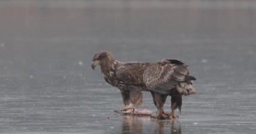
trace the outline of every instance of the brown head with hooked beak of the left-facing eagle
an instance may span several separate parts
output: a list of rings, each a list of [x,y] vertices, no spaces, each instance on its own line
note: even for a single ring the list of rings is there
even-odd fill
[[[102,64],[102,62],[108,61],[110,59],[112,59],[110,52],[104,50],[98,51],[92,58],[92,69],[94,69],[97,65]]]

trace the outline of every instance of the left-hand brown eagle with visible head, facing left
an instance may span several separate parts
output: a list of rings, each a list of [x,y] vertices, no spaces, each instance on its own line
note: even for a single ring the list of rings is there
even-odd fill
[[[125,105],[123,110],[139,107],[143,102],[141,91],[148,91],[143,82],[143,72],[149,63],[119,62],[110,52],[99,51],[92,59],[92,68],[98,64],[106,82],[121,90]]]

